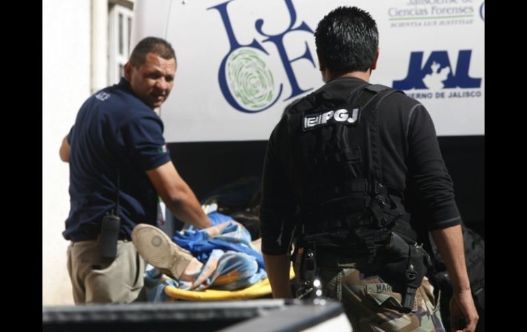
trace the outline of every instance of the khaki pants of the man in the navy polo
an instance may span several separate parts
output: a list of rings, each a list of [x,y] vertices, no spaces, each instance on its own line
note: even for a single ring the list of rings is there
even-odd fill
[[[131,241],[118,241],[114,261],[101,259],[99,242],[71,242],[68,272],[75,304],[144,301],[144,261]]]

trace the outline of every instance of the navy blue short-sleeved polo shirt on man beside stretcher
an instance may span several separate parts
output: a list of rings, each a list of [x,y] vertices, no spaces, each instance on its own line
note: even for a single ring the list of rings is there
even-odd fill
[[[101,219],[120,204],[119,238],[140,223],[155,225],[157,193],[145,171],[170,161],[162,120],[125,79],[88,98],[68,134],[70,214],[66,240],[95,240]],[[119,177],[119,189],[117,181]]]

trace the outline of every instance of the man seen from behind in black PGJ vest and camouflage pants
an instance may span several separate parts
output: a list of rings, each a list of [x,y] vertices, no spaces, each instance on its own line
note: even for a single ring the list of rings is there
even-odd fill
[[[315,40],[326,84],[286,108],[264,164],[262,251],[273,296],[292,297],[292,257],[297,296],[342,301],[357,331],[444,331],[424,277],[430,257],[411,228],[417,206],[452,277],[453,327],[474,331],[461,218],[430,115],[368,83],[378,31],[367,12],[333,10]],[[409,205],[405,196],[418,199]]]

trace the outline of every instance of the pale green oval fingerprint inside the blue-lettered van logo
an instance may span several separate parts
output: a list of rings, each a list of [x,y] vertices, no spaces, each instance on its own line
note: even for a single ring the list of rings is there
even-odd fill
[[[273,102],[272,73],[255,50],[242,47],[231,53],[226,71],[233,97],[247,110],[261,110]]]

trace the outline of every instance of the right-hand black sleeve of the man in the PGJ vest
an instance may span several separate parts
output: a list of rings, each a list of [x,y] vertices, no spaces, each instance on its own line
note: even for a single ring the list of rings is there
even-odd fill
[[[408,143],[409,181],[428,230],[459,225],[452,179],[439,150],[432,118],[422,105],[410,114]]]

